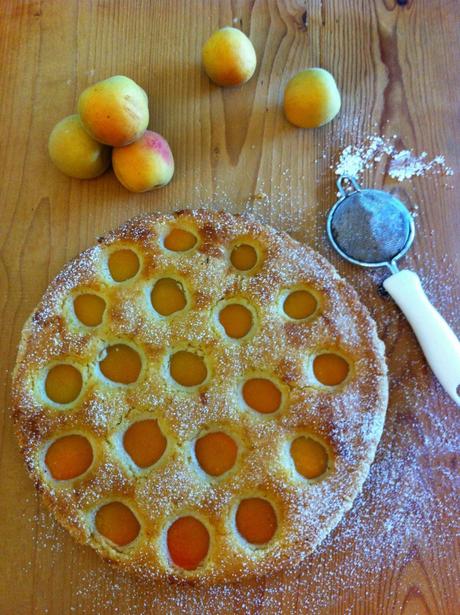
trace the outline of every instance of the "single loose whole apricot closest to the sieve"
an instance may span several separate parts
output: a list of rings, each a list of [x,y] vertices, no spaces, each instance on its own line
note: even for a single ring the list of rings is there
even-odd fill
[[[340,104],[335,79],[323,68],[308,68],[297,73],[284,92],[286,117],[300,128],[327,124],[339,112]]]

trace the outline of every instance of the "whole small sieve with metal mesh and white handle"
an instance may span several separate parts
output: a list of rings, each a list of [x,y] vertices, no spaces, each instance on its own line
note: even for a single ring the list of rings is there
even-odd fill
[[[326,225],[332,245],[355,265],[390,269],[385,290],[410,322],[439,382],[460,404],[460,342],[429,302],[418,275],[398,271],[396,265],[414,240],[412,216],[399,199],[383,190],[362,189],[354,177],[342,175],[337,186],[341,198]]]

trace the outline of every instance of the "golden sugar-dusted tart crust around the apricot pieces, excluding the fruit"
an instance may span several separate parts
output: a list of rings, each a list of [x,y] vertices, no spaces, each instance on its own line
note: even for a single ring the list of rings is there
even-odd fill
[[[171,252],[164,238],[173,228],[197,242]],[[235,245],[249,243],[256,266],[231,264]],[[132,249],[139,271],[114,282],[107,262],[115,249]],[[170,316],[153,310],[150,292],[159,278],[178,280],[186,306]],[[306,320],[288,318],[283,300],[307,289],[318,309]],[[94,292],[106,302],[101,324],[85,327],[73,298]],[[217,310],[238,301],[253,315],[240,340],[219,326]],[[98,361],[114,343],[132,345],[142,368],[133,384],[117,385]],[[208,376],[190,389],[175,385],[168,357],[191,349],[205,358]],[[312,360],[337,352],[350,370],[338,386],[322,386]],[[57,407],[44,394],[44,374],[56,363],[81,371],[77,399]],[[282,393],[270,414],[249,409],[242,383],[270,378]],[[287,234],[245,216],[186,210],[134,218],[98,240],[53,280],[26,322],[13,385],[13,416],[29,473],[59,522],[106,560],[147,578],[213,583],[271,573],[299,562],[338,523],[359,493],[379,442],[386,405],[384,346],[355,291],[319,254]],[[122,434],[135,420],[156,418],[167,440],[159,461],[138,468],[126,454]],[[235,466],[220,478],[196,463],[193,442],[222,430],[237,442]],[[89,469],[73,480],[54,480],[44,463],[50,442],[84,435],[93,448]],[[312,435],[326,447],[327,471],[313,480],[295,469],[290,444]],[[265,545],[246,542],[235,514],[242,498],[262,497],[273,506],[277,530]],[[140,523],[138,537],[119,547],[95,529],[96,511],[125,503]],[[209,532],[209,551],[195,570],[170,559],[166,532],[174,520],[193,515]]]

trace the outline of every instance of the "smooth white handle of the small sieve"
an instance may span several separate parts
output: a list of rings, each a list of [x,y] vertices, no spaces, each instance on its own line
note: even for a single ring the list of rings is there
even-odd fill
[[[411,324],[435,376],[460,405],[460,342],[425,295],[420,278],[403,269],[383,282]]]

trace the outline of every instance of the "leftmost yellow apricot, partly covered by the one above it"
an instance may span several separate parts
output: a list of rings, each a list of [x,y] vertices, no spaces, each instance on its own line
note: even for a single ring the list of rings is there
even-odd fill
[[[68,115],[56,124],[48,139],[48,152],[60,171],[79,179],[97,177],[110,164],[110,147],[90,137],[78,115]]]

